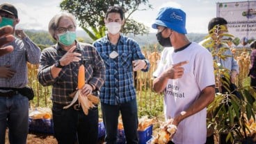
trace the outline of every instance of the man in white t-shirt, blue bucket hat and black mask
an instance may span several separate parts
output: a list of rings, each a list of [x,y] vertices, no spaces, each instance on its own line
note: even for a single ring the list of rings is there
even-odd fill
[[[163,91],[166,120],[177,126],[169,143],[202,144],[207,137],[206,107],[215,95],[213,57],[189,42],[185,25],[186,14],[177,8],[161,8],[152,24],[159,44],[168,47],[153,73],[153,89]]]

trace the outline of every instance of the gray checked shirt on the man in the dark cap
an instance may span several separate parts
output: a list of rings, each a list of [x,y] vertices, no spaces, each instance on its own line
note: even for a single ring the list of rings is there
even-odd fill
[[[28,68],[26,62],[38,64],[41,50],[36,46],[29,37],[24,39],[15,38],[4,46],[13,46],[12,53],[0,57],[0,66],[10,66],[16,71],[13,78],[0,78],[0,87],[22,88],[28,84]],[[3,91],[3,90],[1,90]]]

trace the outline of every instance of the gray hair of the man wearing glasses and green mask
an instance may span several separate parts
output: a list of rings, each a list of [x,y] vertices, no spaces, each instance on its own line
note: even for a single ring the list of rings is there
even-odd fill
[[[51,18],[51,20],[49,21],[49,25],[48,25],[49,33],[50,33],[51,37],[53,37],[55,40],[56,40],[56,38],[54,37],[54,35],[56,32],[56,29],[58,28],[58,23],[59,23],[60,19],[62,19],[63,17],[70,18],[72,20],[74,26],[77,28],[76,18],[71,13],[61,12],[60,14],[55,15],[54,17]]]

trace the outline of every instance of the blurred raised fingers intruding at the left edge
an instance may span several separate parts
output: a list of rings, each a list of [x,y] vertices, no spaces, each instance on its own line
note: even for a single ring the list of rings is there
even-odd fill
[[[1,20],[1,17],[0,17]],[[13,46],[5,46],[2,47],[4,44],[8,44],[12,42],[15,38],[13,34],[13,27],[11,26],[3,26],[0,28],[0,56],[6,55],[13,51]]]

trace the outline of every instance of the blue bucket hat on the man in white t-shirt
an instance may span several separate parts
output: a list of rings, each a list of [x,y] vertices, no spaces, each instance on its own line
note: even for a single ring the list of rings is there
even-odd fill
[[[186,13],[178,8],[161,8],[152,28],[157,29],[157,26],[165,26],[177,33],[186,34]]]

